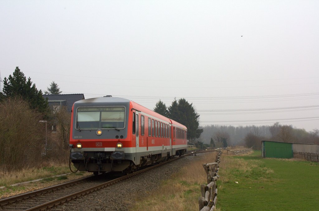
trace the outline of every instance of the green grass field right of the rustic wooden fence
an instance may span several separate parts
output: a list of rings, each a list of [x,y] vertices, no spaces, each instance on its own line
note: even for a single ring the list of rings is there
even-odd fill
[[[319,164],[222,156],[217,207],[226,210],[318,210]],[[238,182],[235,183],[235,182]]]

